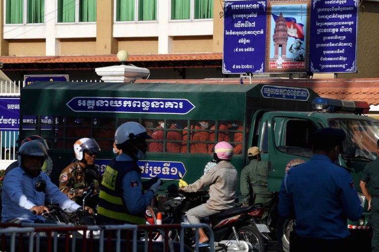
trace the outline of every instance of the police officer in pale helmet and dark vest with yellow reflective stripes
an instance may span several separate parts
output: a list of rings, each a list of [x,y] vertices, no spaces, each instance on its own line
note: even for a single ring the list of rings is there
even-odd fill
[[[97,212],[99,224],[146,223],[145,210],[161,183],[157,179],[143,192],[137,161],[146,158],[147,139],[151,136],[138,122],[126,122],[117,128],[114,141],[122,153],[104,171]]]

